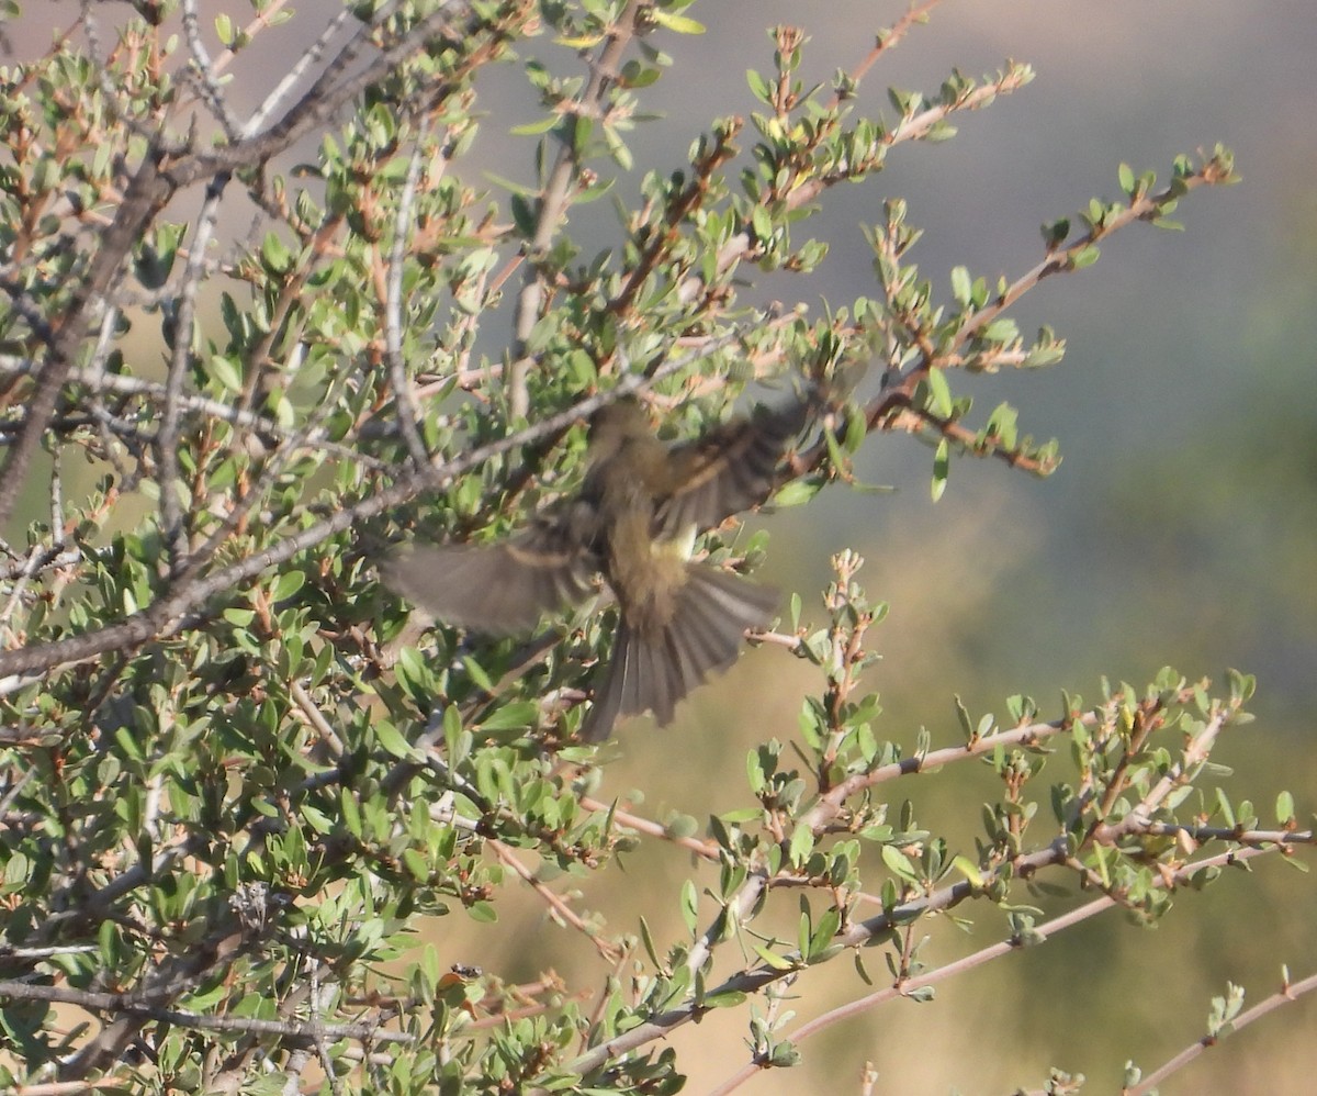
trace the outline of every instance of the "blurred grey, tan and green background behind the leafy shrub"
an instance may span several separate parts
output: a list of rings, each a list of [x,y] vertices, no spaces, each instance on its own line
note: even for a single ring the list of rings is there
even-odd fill
[[[26,43],[49,41],[42,9],[67,25],[76,8],[67,0],[25,7],[37,17],[14,25],[20,55]],[[245,18],[245,5],[202,7]],[[234,105],[258,100],[287,71],[290,50],[340,5],[295,7],[298,18],[240,58]],[[636,178],[680,167],[714,116],[756,109],[744,74],[770,68],[766,28],[803,25],[806,79],[826,83],[859,63],[873,33],[903,11],[894,0],[694,4],[686,14],[705,22],[706,34],[651,40],[674,65],[644,95],[664,117],[635,134]],[[547,40],[524,53],[536,50],[572,71],[570,54]],[[889,84],[932,94],[952,67],[980,75],[1008,57],[1033,63],[1036,80],[959,116],[956,140],[903,146],[872,183],[826,195],[823,215],[795,237],[830,241],[819,275],[774,279],[749,299],[803,299],[818,312],[823,299],[842,306],[874,294],[856,227],[877,221],[892,196],[907,199],[910,223],[926,229],[911,257],[950,299],[956,265],[989,282],[1030,269],[1042,256],[1038,227],[1094,195],[1117,198],[1122,161],[1166,180],[1177,153],[1221,141],[1234,149],[1243,182],[1181,203],[1183,233],[1148,225],[1118,233],[1096,266],[1050,279],[1014,310],[1026,333],[1048,323],[1068,340],[1062,365],[952,378],[955,391],[979,397],[973,424],[1006,399],[1022,431],[1059,437],[1064,462],[1054,477],[959,460],[947,494],[932,503],[931,451],[876,436],[859,470],[896,491],[838,489],[806,510],[763,519],[772,534],[768,577],[801,593],[806,619],[822,620],[828,557],[843,547],[867,557],[860,577],[871,598],[890,602],[889,619],[869,635],[884,660],[867,685],[884,698],[878,732],[906,750],[921,726],[935,746],[960,740],[957,693],[976,717],[1005,718],[1004,698],[1022,692],[1055,718],[1062,689],[1096,701],[1102,674],[1139,686],[1166,664],[1191,678],[1220,680],[1227,665],[1254,672],[1258,719],[1231,730],[1213,759],[1235,769],[1227,786],[1254,798],[1263,823],[1281,788],[1308,811],[1317,804],[1317,13],[1310,0],[947,0],[869,72],[859,111],[890,113]],[[532,145],[507,130],[539,117],[532,92],[511,67],[481,90],[489,116],[462,169],[471,178],[493,170],[531,180]],[[583,217],[587,249],[616,242],[606,207]],[[502,335],[490,332],[491,350]],[[682,811],[703,821],[743,806],[747,748],[793,735],[802,694],[819,688],[809,667],[780,649],[753,652],[666,732],[627,728],[598,796],[637,802],[643,788],[636,809],[657,818]],[[926,827],[972,852],[977,804],[996,789],[986,772],[964,768],[888,792],[913,798]],[[680,939],[676,893],[691,872],[687,858],[647,847],[626,871],[624,880],[614,872],[583,880],[583,904],[619,930],[644,913],[660,946]],[[1051,1064],[1088,1075],[1087,1091],[1112,1092],[1127,1058],[1150,1070],[1198,1038],[1209,999],[1227,980],[1255,1001],[1277,987],[1281,963],[1296,977],[1317,970],[1312,909],[1312,881],[1264,858],[1252,877],[1181,896],[1154,931],[1108,913],[939,987],[930,1004],[900,1001],[834,1026],[802,1046],[798,1070],[741,1091],[856,1092],[872,1062],[874,1091],[901,1096],[1038,1088]],[[569,983],[602,983],[607,971],[594,952],[568,931],[548,930],[537,900],[500,910],[519,934],[507,956],[465,951],[481,947],[482,934],[454,918],[436,937],[445,962],[475,962],[510,980],[553,966]],[[1006,935],[994,912],[961,912],[976,919],[971,935],[930,922],[932,962]],[[735,962],[728,955],[719,970]],[[868,966],[885,976],[877,954]],[[797,992],[806,1020],[868,987],[843,959],[807,972]],[[1317,1041],[1296,1035],[1310,1035],[1314,1022],[1317,1001],[1288,1006],[1163,1091],[1312,1091]],[[690,1070],[687,1091],[735,1072],[744,1035],[739,1009],[678,1031],[672,1045]]]

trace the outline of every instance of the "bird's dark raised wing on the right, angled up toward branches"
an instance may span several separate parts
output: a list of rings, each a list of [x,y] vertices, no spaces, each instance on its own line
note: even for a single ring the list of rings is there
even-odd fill
[[[777,486],[777,469],[786,447],[802,429],[814,402],[799,399],[778,410],[759,407],[669,453],[678,486],[660,501],[656,516],[661,536],[677,536],[694,526],[712,528],[734,514],[764,502]]]

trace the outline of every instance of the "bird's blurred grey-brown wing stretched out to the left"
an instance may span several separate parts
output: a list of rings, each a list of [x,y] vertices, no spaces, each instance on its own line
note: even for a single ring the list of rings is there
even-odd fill
[[[554,609],[585,601],[599,562],[561,515],[502,544],[406,548],[383,565],[390,588],[444,624],[524,632]]]

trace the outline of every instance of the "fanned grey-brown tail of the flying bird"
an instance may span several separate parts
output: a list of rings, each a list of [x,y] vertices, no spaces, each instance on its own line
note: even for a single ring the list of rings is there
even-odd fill
[[[612,657],[581,736],[601,742],[618,719],[641,711],[653,711],[660,726],[672,722],[677,702],[707,674],[735,663],[745,630],[765,627],[777,603],[777,590],[686,564],[686,581],[666,624],[644,631],[626,618],[618,624]]]

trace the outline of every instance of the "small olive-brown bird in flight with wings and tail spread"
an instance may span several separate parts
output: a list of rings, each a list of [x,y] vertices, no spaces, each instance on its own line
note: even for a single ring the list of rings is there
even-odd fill
[[[815,408],[806,394],[668,444],[636,398],[615,399],[590,419],[574,497],[499,544],[406,547],[386,561],[385,582],[445,624],[512,635],[595,595],[602,576],[619,620],[579,736],[602,742],[644,711],[666,726],[687,693],[736,661],[745,631],[765,628],[780,601],[769,586],[691,561],[695,535],[768,499]]]

